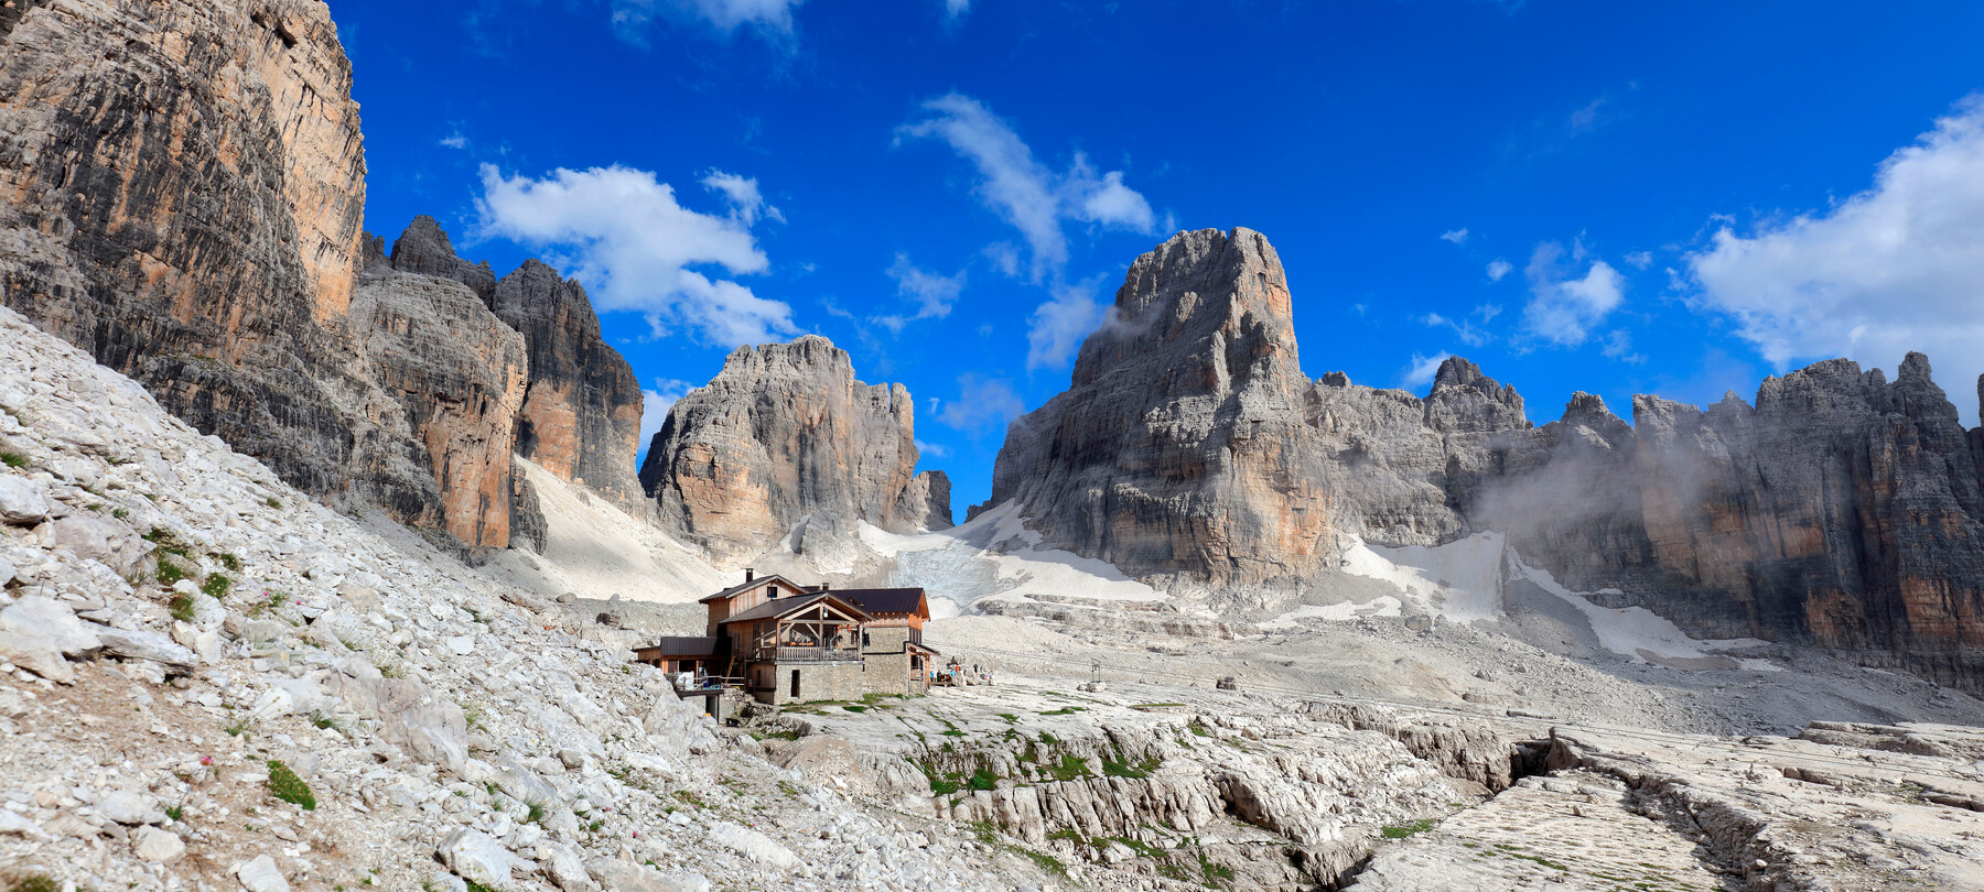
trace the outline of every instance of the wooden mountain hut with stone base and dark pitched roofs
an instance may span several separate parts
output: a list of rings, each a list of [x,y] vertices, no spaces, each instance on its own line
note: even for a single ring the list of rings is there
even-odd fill
[[[700,603],[708,634],[635,650],[682,696],[726,686],[766,704],[921,694],[938,664],[923,644],[930,618],[923,589],[833,591],[744,571],[742,583]]]

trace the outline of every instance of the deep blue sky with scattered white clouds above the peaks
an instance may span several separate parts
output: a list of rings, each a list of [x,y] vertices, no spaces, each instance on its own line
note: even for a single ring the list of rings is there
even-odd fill
[[[1530,418],[1984,373],[1984,4],[345,0],[367,228],[542,256],[651,404],[821,333],[984,500],[1137,254],[1248,226],[1303,371]],[[659,412],[657,412],[659,414]],[[659,424],[659,416],[655,418]]]

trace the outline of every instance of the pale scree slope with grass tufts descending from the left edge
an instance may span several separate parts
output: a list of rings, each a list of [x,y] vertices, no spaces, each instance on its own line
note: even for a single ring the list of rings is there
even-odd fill
[[[310,502],[4,309],[0,458],[4,878],[1055,882],[732,747],[623,642],[383,517]]]

